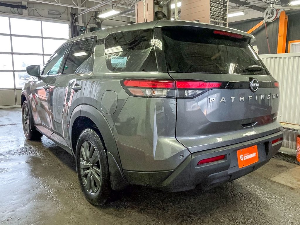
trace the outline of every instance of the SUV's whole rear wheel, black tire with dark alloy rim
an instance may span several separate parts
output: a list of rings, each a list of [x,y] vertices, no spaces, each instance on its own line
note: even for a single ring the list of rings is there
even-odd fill
[[[85,129],[76,145],[76,171],[85,198],[93,205],[103,205],[111,195],[107,153],[94,129]]]

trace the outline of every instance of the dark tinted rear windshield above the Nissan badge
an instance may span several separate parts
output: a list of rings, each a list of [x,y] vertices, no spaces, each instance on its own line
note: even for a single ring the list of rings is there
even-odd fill
[[[246,38],[191,26],[164,27],[162,36],[170,72],[269,75],[267,70],[246,69],[250,65],[265,68]]]

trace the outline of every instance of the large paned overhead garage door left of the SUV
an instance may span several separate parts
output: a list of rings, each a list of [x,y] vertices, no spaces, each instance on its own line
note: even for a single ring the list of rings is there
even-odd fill
[[[0,107],[20,104],[22,86],[29,75],[26,67],[43,66],[69,38],[67,23],[0,16]]]

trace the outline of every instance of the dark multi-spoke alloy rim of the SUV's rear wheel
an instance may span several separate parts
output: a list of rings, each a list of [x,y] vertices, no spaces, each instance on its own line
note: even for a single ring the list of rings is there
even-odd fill
[[[85,141],[79,154],[79,170],[83,185],[90,193],[96,193],[101,185],[100,157],[95,146]]]

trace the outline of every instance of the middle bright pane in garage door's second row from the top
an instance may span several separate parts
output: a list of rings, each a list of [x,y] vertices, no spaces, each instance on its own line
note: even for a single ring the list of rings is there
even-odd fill
[[[41,38],[12,37],[13,52],[43,53]]]

